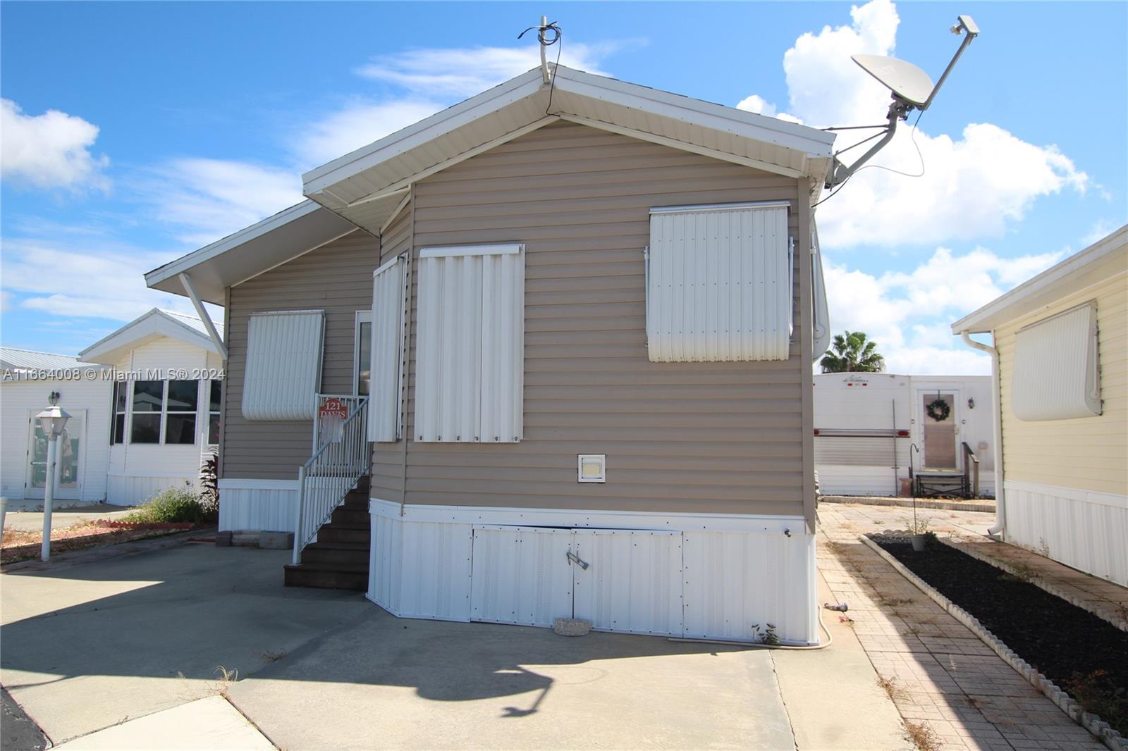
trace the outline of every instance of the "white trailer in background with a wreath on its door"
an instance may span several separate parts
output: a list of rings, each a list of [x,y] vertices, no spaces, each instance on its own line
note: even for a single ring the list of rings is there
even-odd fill
[[[946,410],[934,407],[929,414],[937,399]],[[967,471],[969,492],[992,496],[993,414],[988,376],[820,373],[814,377],[819,492],[900,495],[911,466],[918,477]]]

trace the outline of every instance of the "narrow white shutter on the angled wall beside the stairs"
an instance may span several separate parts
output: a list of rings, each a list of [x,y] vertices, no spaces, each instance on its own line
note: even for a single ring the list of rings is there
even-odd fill
[[[368,406],[368,440],[399,438],[399,405],[404,343],[403,257],[394,258],[372,273],[372,347]]]

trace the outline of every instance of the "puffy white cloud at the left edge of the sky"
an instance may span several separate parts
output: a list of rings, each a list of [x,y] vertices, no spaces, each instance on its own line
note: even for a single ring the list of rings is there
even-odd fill
[[[106,189],[105,156],[90,152],[98,126],[76,115],[49,109],[25,115],[11,99],[0,99],[0,175],[37,188]]]

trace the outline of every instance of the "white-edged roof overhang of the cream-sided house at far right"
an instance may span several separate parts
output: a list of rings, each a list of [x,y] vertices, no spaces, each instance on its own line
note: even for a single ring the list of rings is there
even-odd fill
[[[1128,271],[1128,224],[952,324],[982,334]]]

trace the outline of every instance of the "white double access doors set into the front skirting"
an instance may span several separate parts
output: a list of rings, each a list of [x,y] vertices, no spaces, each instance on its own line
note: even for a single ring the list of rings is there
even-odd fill
[[[681,532],[474,528],[470,620],[681,635]]]

